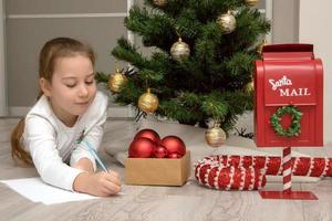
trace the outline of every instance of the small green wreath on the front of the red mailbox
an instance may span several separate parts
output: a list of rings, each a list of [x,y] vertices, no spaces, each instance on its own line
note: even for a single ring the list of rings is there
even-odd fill
[[[284,114],[290,114],[292,117],[292,124],[288,128],[283,128],[280,124],[281,116]],[[271,115],[270,122],[274,131],[282,137],[295,137],[301,133],[300,120],[302,118],[302,113],[295,106],[282,106],[277,109],[274,114]]]

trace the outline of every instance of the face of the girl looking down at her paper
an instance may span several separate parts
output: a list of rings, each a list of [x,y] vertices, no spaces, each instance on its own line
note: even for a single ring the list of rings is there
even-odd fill
[[[77,116],[84,114],[96,94],[91,60],[83,55],[58,59],[52,82],[46,87],[43,91],[50,98],[54,114],[65,125],[73,126]]]

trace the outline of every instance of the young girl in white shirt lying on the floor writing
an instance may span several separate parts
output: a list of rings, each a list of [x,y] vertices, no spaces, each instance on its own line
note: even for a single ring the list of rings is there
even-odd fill
[[[96,91],[94,53],[85,44],[58,38],[40,53],[40,98],[12,133],[12,157],[33,162],[52,186],[106,197],[121,189],[115,172],[95,172],[107,97]],[[84,143],[81,143],[81,140]]]

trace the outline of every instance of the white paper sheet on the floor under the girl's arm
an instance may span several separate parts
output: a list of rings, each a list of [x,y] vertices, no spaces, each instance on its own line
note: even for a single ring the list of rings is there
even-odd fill
[[[52,187],[43,182],[40,177],[0,180],[0,182],[6,183],[12,190],[17,191],[18,193],[22,194],[29,200],[33,202],[42,202],[44,204],[81,201],[98,198],[90,194],[72,192],[56,187]]]

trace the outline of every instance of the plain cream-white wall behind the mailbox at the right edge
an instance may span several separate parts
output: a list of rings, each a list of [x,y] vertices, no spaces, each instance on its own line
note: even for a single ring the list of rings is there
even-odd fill
[[[332,143],[332,29],[331,0],[301,0],[299,41],[314,44],[317,57],[324,69],[324,143]]]

